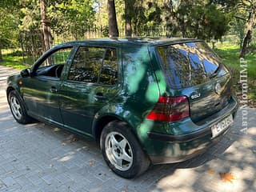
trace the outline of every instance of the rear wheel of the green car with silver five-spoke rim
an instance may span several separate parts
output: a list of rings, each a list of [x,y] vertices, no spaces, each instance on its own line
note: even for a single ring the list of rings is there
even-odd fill
[[[150,160],[125,122],[108,123],[102,130],[100,146],[106,164],[122,178],[134,178],[150,166]]]

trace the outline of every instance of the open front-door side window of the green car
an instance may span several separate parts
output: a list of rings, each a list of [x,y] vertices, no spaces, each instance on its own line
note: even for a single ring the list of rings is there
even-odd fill
[[[40,66],[38,66],[37,74],[60,78],[62,74],[62,69],[67,59],[70,56],[72,47],[63,48],[50,54]]]

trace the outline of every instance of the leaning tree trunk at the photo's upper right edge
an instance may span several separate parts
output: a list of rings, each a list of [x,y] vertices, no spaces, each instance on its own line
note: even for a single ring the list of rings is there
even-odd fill
[[[256,10],[252,9],[246,23],[246,37],[243,39],[242,49],[241,49],[239,58],[245,58],[246,56],[246,50],[248,49],[248,46],[250,44],[254,25],[256,22],[255,19],[256,19]]]

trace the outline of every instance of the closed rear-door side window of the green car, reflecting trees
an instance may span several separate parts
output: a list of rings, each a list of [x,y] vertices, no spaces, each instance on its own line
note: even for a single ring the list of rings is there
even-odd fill
[[[113,48],[78,48],[70,67],[68,80],[114,85],[118,80],[116,50]]]

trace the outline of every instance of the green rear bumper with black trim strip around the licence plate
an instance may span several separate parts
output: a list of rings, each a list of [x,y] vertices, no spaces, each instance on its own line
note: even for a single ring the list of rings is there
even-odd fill
[[[212,138],[210,126],[222,121],[230,114],[235,118],[237,110],[238,102],[234,99],[232,105],[214,114],[214,117],[204,119],[203,122],[200,122],[200,125],[196,125],[198,127],[197,131],[192,131],[188,134],[170,135],[147,132],[148,142],[154,148],[153,153],[148,153],[151,162],[153,164],[183,162],[204,153],[211,146],[218,143],[231,127],[229,126],[217,137]],[[194,123],[191,122],[192,124]]]

